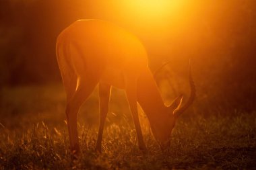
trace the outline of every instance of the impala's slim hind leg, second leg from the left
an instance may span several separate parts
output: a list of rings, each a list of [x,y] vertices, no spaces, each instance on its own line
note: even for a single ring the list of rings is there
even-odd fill
[[[101,153],[102,134],[104,130],[104,122],[106,120],[106,114],[108,113],[108,103],[110,96],[111,86],[108,84],[100,83],[99,96],[100,96],[100,126],[98,128],[98,139],[96,144],[96,151]]]

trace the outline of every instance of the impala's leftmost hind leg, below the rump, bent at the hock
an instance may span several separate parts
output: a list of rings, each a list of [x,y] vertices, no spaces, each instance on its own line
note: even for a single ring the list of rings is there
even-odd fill
[[[79,154],[79,140],[77,132],[77,113],[80,106],[92,93],[95,86],[98,83],[97,79],[80,79],[78,87],[67,103],[66,116],[67,116],[67,126],[69,129],[69,140],[71,152],[74,154]]]

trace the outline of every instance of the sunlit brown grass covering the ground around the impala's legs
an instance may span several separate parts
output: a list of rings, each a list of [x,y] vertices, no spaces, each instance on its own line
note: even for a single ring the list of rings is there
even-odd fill
[[[60,85],[1,89],[0,169],[254,169],[255,113],[185,113],[175,126],[170,152],[162,153],[145,116],[148,153],[136,133],[121,91],[114,90],[104,128],[103,153],[94,152],[98,100],[94,93],[79,114],[82,157],[71,161]],[[197,108],[198,110],[198,108]],[[85,113],[85,114],[84,114]],[[234,114],[234,115],[232,115]]]

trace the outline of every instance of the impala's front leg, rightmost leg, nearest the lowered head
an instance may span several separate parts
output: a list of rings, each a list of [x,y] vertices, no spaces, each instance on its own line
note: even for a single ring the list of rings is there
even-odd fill
[[[131,114],[133,116],[133,122],[137,132],[137,140],[138,140],[139,148],[143,151],[146,151],[147,148],[143,140],[141,126],[139,124],[138,110],[137,110],[137,80],[136,79],[128,79],[126,81],[126,96],[129,102]]]

